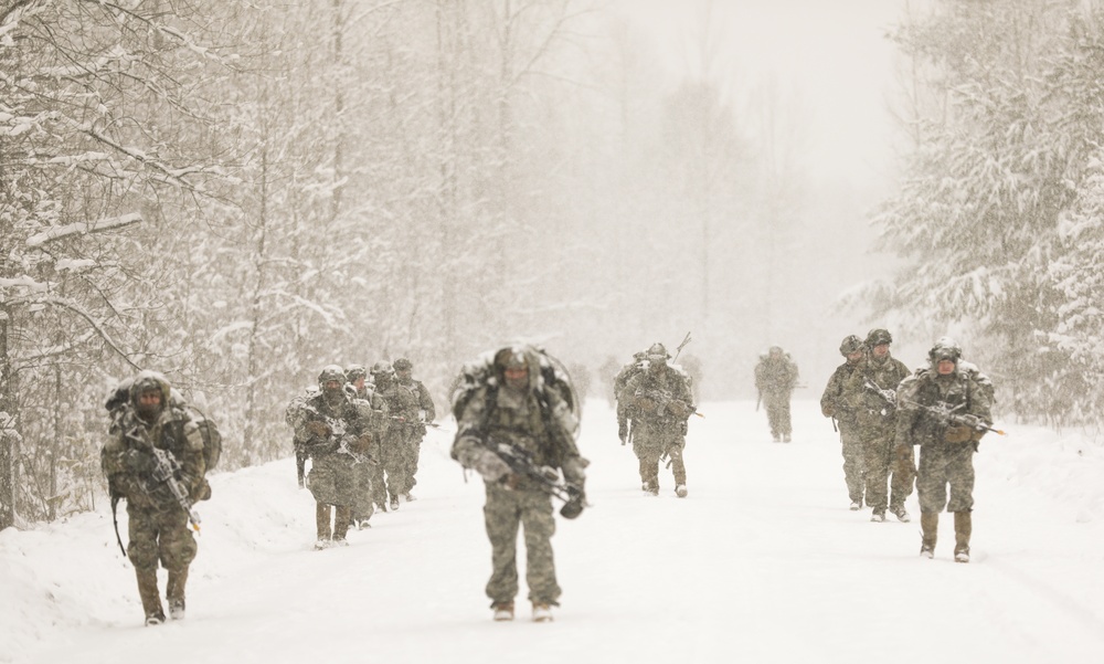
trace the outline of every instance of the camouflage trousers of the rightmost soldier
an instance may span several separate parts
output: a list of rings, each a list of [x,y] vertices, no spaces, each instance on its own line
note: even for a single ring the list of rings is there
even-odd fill
[[[951,498],[947,499],[947,486]],[[921,512],[969,512],[974,507],[974,446],[969,443],[922,445],[916,495]]]

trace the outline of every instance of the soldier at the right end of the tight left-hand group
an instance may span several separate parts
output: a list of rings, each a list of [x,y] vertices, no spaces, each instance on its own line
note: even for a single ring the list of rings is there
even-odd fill
[[[417,422],[418,402],[410,390],[402,389],[395,380],[395,369],[384,361],[372,367],[375,390],[388,402],[388,430],[380,447],[385,483],[376,488],[376,496],[388,500],[391,509],[399,509],[399,496],[411,487],[407,477],[407,456],[413,436],[412,423]]]

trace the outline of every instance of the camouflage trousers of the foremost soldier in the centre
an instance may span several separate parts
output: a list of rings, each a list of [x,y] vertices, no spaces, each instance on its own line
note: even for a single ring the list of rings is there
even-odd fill
[[[491,575],[487,597],[495,603],[512,602],[518,594],[518,526],[524,529],[526,582],[529,600],[556,604],[552,535],[555,519],[552,498],[543,491],[510,489],[487,483],[484,520],[491,546]]]

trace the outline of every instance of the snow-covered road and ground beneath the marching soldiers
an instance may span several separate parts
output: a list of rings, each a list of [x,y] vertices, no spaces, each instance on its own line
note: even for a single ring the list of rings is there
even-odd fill
[[[771,443],[751,402],[691,421],[690,495],[639,491],[609,409],[581,447],[593,507],[558,518],[555,622],[490,620],[481,482],[431,431],[418,500],[351,546],[314,551],[290,460],[212,476],[188,618],[144,628],[106,505],[0,533],[0,662],[1104,662],[1104,447],[1017,426],[976,457],[974,561],[935,560],[919,524],[847,509],[839,444],[817,404]],[[915,496],[907,507],[915,516]],[[126,517],[120,529],[126,537]],[[162,589],[163,589],[163,571]]]

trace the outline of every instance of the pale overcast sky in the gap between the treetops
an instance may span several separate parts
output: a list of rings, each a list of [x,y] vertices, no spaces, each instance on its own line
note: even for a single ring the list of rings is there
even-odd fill
[[[701,32],[705,0],[622,0],[658,38],[672,73],[698,67],[687,44]],[[867,178],[889,167],[896,56],[884,39],[919,0],[712,0],[711,30],[723,44],[721,85],[774,85],[807,118],[809,168]],[[696,46],[694,46],[696,48]]]

